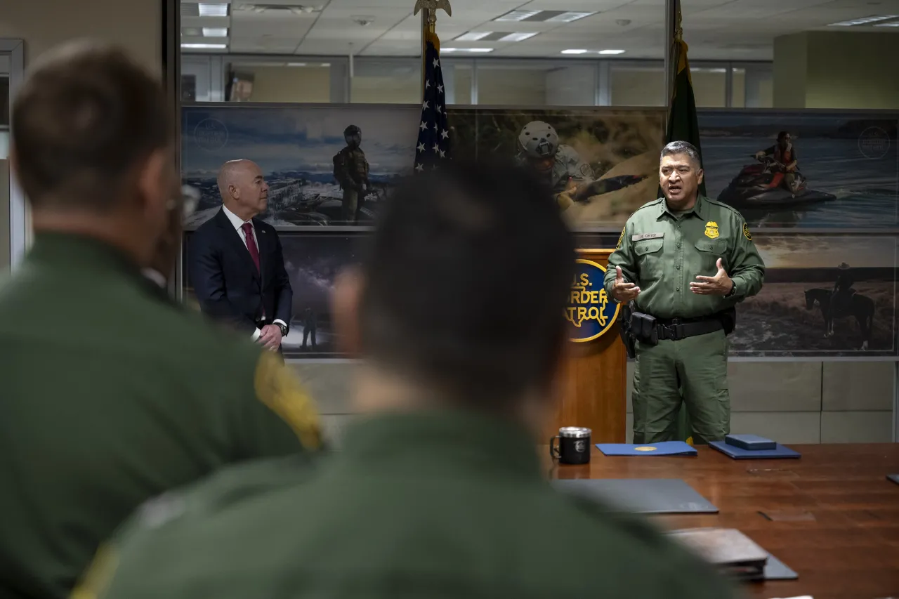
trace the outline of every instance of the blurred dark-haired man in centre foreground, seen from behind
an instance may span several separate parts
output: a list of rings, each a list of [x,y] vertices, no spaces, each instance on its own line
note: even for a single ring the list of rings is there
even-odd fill
[[[74,597],[732,596],[639,517],[544,477],[574,259],[548,186],[518,167],[402,183],[336,286],[363,358],[342,451],[147,505]]]

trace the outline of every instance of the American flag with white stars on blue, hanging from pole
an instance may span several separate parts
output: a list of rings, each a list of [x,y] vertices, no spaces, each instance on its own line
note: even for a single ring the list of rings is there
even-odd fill
[[[449,160],[449,125],[447,124],[447,94],[443,87],[441,41],[427,33],[424,51],[424,98],[422,122],[418,126],[415,146],[415,172],[434,169],[441,160]]]

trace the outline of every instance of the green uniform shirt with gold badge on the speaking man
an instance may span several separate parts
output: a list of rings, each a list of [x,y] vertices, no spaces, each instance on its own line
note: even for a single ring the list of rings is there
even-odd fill
[[[715,276],[717,259],[734,280],[730,298],[690,291],[698,275]],[[611,295],[615,267],[640,294],[636,307],[657,318],[710,316],[761,290],[765,264],[743,216],[727,204],[699,196],[691,210],[675,215],[664,198],[645,204],[628,219],[605,277]]]

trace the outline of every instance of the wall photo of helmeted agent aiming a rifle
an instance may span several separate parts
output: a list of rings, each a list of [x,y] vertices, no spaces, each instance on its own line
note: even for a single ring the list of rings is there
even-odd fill
[[[510,156],[543,174],[569,226],[621,227],[656,198],[665,112],[450,108],[457,156]]]

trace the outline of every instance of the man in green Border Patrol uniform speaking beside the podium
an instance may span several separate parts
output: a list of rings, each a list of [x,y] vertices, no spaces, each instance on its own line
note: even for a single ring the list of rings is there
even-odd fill
[[[681,388],[697,443],[730,432],[726,335],[765,265],[740,213],[699,195],[702,178],[696,148],[665,146],[664,197],[636,210],[609,257],[606,291],[632,308],[634,443],[672,440]]]

